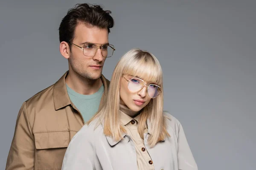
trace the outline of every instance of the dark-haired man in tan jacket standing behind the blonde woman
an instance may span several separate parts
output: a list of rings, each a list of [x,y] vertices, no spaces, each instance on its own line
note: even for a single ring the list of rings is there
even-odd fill
[[[110,13],[84,3],[62,19],[60,52],[69,71],[21,106],[6,170],[61,169],[70,140],[106,98],[109,81],[102,68],[114,51],[108,42]]]

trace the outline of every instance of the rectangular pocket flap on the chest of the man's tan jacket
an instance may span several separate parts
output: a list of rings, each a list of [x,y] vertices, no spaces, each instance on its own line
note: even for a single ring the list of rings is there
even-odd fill
[[[34,133],[36,149],[67,147],[70,142],[69,132]]]

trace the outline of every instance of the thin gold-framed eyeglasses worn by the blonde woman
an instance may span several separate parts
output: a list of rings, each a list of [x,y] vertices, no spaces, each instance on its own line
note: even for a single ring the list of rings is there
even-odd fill
[[[131,92],[137,92],[140,91],[144,86],[147,86],[147,93],[148,96],[151,98],[156,98],[161,92],[161,88],[158,85],[149,84],[146,85],[143,79],[139,78],[131,78],[130,80],[126,79],[124,76],[122,76],[127,82],[128,82],[128,89]]]

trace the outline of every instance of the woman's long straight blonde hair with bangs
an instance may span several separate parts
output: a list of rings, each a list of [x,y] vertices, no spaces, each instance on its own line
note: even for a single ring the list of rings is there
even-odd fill
[[[161,87],[162,93],[157,98],[151,99],[140,112],[138,132],[144,138],[143,130],[149,127],[150,136],[148,144],[154,147],[157,142],[162,141],[165,136],[170,136],[167,132],[166,117],[163,116],[163,73],[159,61],[153,54],[138,48],[131,49],[125,53],[113,71],[108,90],[107,101],[87,124],[95,120],[104,121],[104,133],[111,136],[114,140],[122,139],[125,127],[120,124],[120,79],[122,75],[141,77],[147,82],[157,83]],[[150,125],[147,126],[147,120]],[[96,127],[99,122],[96,124]]]

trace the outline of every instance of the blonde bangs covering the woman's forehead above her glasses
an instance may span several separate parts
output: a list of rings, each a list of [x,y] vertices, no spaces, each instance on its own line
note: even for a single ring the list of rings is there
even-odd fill
[[[162,69],[153,56],[148,53],[140,53],[126,62],[123,74],[143,79],[145,82],[161,85]]]

